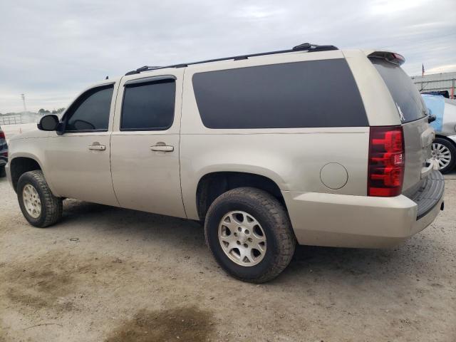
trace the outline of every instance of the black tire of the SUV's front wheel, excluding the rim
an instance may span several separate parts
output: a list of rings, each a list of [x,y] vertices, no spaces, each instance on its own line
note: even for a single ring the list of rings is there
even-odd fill
[[[41,201],[41,214],[37,218],[32,217],[26,210],[23,200],[23,192],[26,185],[31,185],[36,189]],[[41,170],[29,171],[21,175],[17,183],[17,198],[22,214],[32,226],[45,228],[55,224],[62,217],[62,199],[52,194]]]

